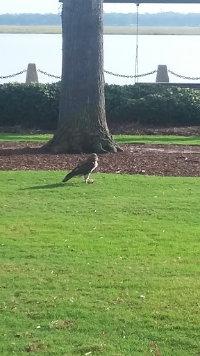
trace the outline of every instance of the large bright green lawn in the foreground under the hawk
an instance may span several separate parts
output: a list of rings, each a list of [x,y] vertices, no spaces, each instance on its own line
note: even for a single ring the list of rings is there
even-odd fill
[[[0,355],[198,355],[200,179],[64,176],[0,172]]]

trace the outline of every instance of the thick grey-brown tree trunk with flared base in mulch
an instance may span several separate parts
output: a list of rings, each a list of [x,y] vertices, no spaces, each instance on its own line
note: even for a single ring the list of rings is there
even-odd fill
[[[63,71],[54,153],[116,152],[106,122],[103,76],[103,0],[64,0]]]

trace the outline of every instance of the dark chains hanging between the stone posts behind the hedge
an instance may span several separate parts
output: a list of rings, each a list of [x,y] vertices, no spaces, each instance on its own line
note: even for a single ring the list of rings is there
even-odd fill
[[[15,74],[10,74],[10,75],[6,75],[6,76],[0,76],[0,79],[10,79],[10,78],[13,78],[15,76],[19,76],[20,74],[26,73],[26,72],[27,72],[27,70],[22,70],[21,72],[17,72]],[[61,76],[50,74],[50,73],[44,72],[43,70],[37,70],[37,72],[40,72],[41,74],[44,74],[44,75],[49,76],[51,78],[61,79]],[[151,74],[156,73],[157,70],[152,70],[151,72],[147,72],[147,73],[144,73],[144,74],[135,74],[135,75],[117,74],[117,73],[109,72],[108,70],[103,70],[103,72],[106,73],[106,74],[113,75],[113,76],[118,76],[120,78],[133,79],[133,78],[142,78],[142,76],[149,76]],[[178,78],[181,78],[181,79],[187,79],[187,80],[191,80],[191,81],[200,80],[200,76],[196,76],[196,77],[195,76],[183,76],[181,74],[177,74],[177,73],[173,72],[172,70],[168,70],[168,72],[170,74],[178,77]]]

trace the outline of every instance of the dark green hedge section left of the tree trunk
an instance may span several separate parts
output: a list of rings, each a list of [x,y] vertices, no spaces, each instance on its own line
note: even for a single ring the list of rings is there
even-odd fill
[[[0,86],[0,126],[55,129],[58,123],[60,83]]]

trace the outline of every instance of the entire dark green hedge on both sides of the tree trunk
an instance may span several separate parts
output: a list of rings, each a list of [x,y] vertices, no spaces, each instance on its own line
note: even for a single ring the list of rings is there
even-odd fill
[[[200,124],[200,91],[160,85],[105,86],[109,122],[148,125]],[[56,129],[60,82],[0,86],[0,126]]]

